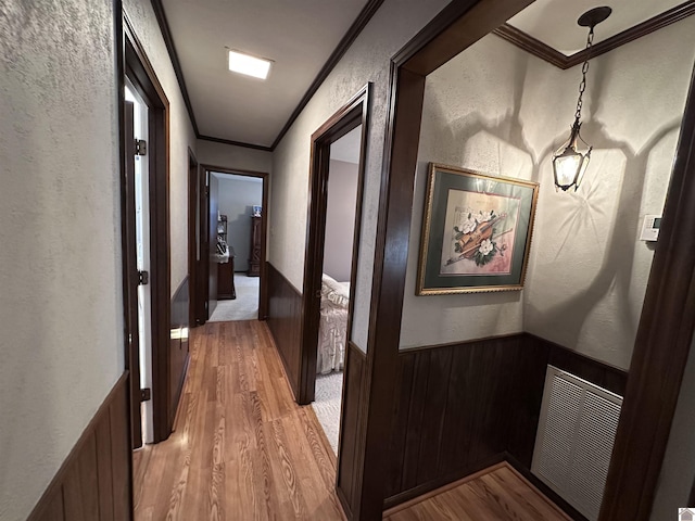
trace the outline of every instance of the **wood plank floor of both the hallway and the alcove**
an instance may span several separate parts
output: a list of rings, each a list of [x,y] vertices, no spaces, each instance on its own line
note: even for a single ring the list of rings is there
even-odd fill
[[[298,406],[264,322],[208,322],[169,440],[134,453],[136,521],[344,519],[336,462],[311,407]],[[567,520],[508,466],[420,501],[390,521]]]

